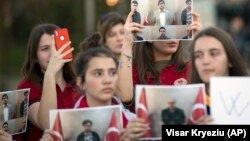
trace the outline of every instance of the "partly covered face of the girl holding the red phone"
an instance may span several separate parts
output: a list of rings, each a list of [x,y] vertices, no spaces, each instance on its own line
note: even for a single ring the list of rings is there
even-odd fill
[[[50,60],[50,47],[52,44],[52,36],[43,34],[38,44],[37,62],[40,65],[41,71],[44,73],[47,69]]]

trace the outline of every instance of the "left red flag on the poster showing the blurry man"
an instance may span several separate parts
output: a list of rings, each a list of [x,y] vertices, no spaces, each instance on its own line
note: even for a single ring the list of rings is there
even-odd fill
[[[136,108],[136,113],[139,118],[144,119],[145,123],[150,125],[145,88],[142,88],[139,103]],[[151,135],[151,129],[148,129],[143,137],[152,137]]]

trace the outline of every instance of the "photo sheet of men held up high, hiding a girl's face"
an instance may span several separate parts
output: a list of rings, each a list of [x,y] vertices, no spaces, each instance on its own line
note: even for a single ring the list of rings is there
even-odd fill
[[[132,22],[145,26],[134,41],[192,40],[193,0],[131,0]]]

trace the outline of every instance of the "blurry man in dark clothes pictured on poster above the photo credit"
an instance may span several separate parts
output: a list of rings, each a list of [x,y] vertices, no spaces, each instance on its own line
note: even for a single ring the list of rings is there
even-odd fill
[[[166,109],[163,109],[161,112],[161,119],[163,124],[165,125],[182,125],[185,123],[185,113],[182,109],[176,107],[175,102],[175,99],[170,98],[167,101],[168,107]]]

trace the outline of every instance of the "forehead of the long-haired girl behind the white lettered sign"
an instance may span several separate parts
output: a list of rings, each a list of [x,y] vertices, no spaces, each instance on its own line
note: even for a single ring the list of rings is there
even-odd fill
[[[209,51],[211,49],[225,50],[222,43],[211,36],[203,36],[196,40],[194,51]]]

